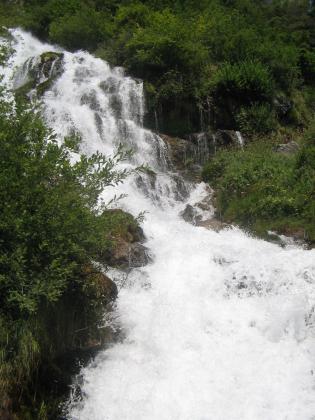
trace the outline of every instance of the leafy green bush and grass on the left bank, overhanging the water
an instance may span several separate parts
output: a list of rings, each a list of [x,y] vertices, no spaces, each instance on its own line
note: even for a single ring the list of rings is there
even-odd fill
[[[115,287],[94,261],[106,263],[116,234],[136,224],[99,201],[127,175],[115,169],[124,153],[71,164],[77,141],[58,145],[34,109],[1,96],[0,417],[13,403],[21,418],[37,418],[23,405],[38,407],[61,381],[58,357],[99,339]]]

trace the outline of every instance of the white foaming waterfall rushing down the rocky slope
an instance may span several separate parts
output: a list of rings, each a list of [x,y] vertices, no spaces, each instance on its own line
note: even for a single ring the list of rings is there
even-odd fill
[[[13,32],[16,66],[56,50]],[[219,233],[186,223],[188,202],[209,194],[186,185],[167,165],[161,139],[142,128],[142,84],[85,52],[65,52],[64,71],[43,97],[48,124],[73,129],[86,153],[135,150],[133,175],[114,193],[143,223],[152,262],[134,269],[113,319],[124,339],[82,370],[82,401],[72,420],[315,419],[315,251],[255,239],[239,229]],[[187,195],[187,196],[186,196]]]

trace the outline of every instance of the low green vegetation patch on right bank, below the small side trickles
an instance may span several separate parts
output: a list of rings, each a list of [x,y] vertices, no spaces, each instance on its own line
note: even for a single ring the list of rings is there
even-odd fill
[[[315,243],[315,126],[294,154],[276,153],[277,141],[222,150],[203,169],[216,189],[218,214],[259,235],[274,230]]]

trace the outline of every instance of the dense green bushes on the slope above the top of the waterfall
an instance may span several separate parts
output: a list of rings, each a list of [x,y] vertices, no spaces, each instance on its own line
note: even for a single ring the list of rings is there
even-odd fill
[[[307,0],[22,4],[4,2],[3,23],[88,49],[143,78],[148,123],[155,124],[155,113],[162,132],[183,135],[211,125],[266,133],[311,117],[315,19]]]

